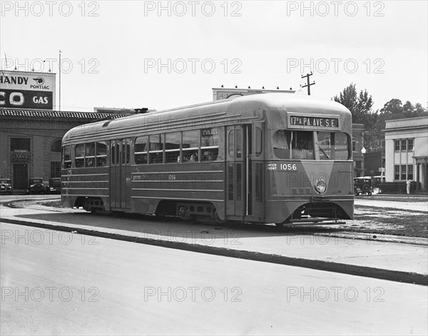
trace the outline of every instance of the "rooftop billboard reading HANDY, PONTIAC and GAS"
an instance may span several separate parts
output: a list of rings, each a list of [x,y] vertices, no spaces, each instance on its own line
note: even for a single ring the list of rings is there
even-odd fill
[[[56,74],[0,70],[0,108],[53,110]]]

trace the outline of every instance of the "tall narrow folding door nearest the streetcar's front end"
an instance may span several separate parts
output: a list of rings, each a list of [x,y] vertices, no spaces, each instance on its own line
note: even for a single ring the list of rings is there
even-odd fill
[[[244,220],[253,212],[251,125],[226,128],[226,213]],[[238,216],[239,218],[233,218]]]

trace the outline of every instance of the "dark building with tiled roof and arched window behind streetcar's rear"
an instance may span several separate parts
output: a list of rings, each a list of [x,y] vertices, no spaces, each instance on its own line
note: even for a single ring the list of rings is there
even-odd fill
[[[0,178],[11,178],[16,193],[30,178],[61,177],[61,140],[75,126],[117,113],[60,112],[0,108]]]

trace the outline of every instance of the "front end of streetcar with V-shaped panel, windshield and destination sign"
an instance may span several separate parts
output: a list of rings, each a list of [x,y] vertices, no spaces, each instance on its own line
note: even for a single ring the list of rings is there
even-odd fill
[[[300,104],[268,117],[267,223],[354,218],[352,121],[344,106]]]

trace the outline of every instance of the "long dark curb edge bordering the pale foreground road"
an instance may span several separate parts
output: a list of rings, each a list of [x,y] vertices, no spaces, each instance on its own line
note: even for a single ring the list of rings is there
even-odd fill
[[[65,232],[70,232],[72,230],[72,231],[76,231],[76,233],[81,235],[93,235],[95,237],[123,240],[131,243],[153,245],[153,246],[159,246],[163,248],[174,248],[177,250],[186,250],[186,251],[196,252],[196,253],[220,255],[223,257],[254,260],[254,261],[261,261],[264,263],[274,263],[274,264],[280,264],[280,265],[297,266],[302,268],[311,268],[314,270],[325,270],[327,272],[357,275],[357,276],[362,276],[366,278],[376,278],[376,279],[382,279],[382,280],[406,282],[406,283],[412,283],[416,285],[428,286],[428,275],[419,274],[419,273],[403,272],[403,271],[397,271],[397,270],[385,270],[382,268],[371,268],[367,266],[349,265],[344,263],[333,263],[333,262],[324,261],[324,260],[292,258],[292,257],[287,257],[285,255],[273,255],[273,254],[259,253],[259,252],[248,251],[248,250],[231,250],[228,248],[218,248],[214,246],[171,242],[166,240],[135,237],[131,235],[125,235],[125,234],[119,234],[119,233],[108,233],[104,231],[90,230],[90,229],[76,228],[75,230],[73,230],[73,227],[65,226],[65,225],[33,223],[33,222],[26,222],[24,220],[12,220],[12,219],[4,219],[4,218],[0,218],[0,223],[1,222],[31,226],[36,228],[46,228],[46,229],[65,231]]]

